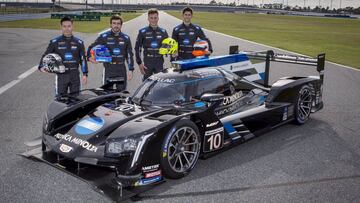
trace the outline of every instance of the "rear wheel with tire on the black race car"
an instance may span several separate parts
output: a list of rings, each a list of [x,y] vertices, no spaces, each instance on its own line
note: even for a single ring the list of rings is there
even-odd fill
[[[312,99],[311,88],[308,85],[303,85],[294,100],[295,124],[302,125],[309,119]]]

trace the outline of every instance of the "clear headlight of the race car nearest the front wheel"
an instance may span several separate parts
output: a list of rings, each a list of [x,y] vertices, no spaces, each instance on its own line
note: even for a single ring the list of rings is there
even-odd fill
[[[120,154],[122,152],[135,151],[138,141],[127,138],[121,141],[109,142],[106,148],[106,152],[109,154]]]

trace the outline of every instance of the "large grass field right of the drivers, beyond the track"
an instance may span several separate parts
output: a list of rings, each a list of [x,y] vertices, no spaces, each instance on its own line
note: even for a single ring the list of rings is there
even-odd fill
[[[180,12],[168,13],[181,18]],[[324,52],[329,61],[360,69],[358,19],[196,12],[193,22],[210,30],[309,56]]]

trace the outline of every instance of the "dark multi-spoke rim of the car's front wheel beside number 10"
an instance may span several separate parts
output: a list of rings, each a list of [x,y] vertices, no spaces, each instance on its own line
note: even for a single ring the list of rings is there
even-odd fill
[[[194,129],[182,127],[172,136],[168,162],[172,170],[182,173],[194,166],[200,153],[200,142]]]

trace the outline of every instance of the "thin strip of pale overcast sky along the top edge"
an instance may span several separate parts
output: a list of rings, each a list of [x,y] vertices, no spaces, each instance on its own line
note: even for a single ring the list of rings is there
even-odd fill
[[[51,2],[51,0],[0,0],[4,2]],[[59,0],[56,0],[59,1]],[[82,2],[84,3],[85,0],[60,0],[61,2]],[[209,3],[211,0],[104,0],[105,3],[112,3],[115,4],[146,4],[146,3],[170,3],[170,2],[190,2],[190,3]],[[101,3],[101,0],[88,0],[88,3]],[[235,2],[236,4],[269,4],[269,3],[284,3],[285,5],[290,6],[310,6],[315,7],[321,5],[322,7],[332,7],[332,8],[339,8],[341,7],[360,7],[360,0],[216,0],[216,2],[223,2],[223,3],[231,3]]]

